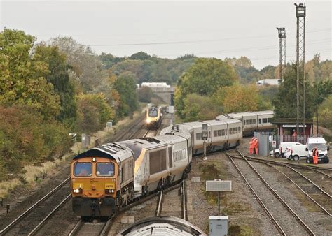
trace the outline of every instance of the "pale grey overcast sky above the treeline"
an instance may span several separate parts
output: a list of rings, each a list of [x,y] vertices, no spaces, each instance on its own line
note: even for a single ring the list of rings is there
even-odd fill
[[[246,56],[258,69],[278,64],[276,27],[285,27],[286,60],[296,57],[295,1],[4,1],[0,27],[38,41],[72,36],[97,54],[144,51],[158,57]],[[307,6],[306,60],[331,59],[331,1]]]

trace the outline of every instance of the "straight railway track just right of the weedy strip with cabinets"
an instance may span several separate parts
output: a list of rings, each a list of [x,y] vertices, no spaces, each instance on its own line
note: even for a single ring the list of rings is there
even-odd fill
[[[256,200],[261,205],[265,213],[268,215],[275,228],[282,235],[314,235],[313,231],[296,214],[296,212],[285,202],[277,191],[272,189],[270,184],[263,176],[254,168],[246,157],[241,155],[242,160],[231,157],[227,152],[226,156],[233,163],[235,169],[244,179],[251,193],[254,194]],[[242,172],[240,169],[245,169]],[[250,170],[250,171],[249,171]],[[258,179],[259,181],[258,181]],[[273,202],[273,204],[271,204]]]

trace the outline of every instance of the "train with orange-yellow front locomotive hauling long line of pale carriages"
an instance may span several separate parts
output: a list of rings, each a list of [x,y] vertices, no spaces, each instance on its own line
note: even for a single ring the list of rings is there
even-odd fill
[[[272,116],[270,111],[246,112],[237,119],[235,115],[175,124],[155,138],[111,142],[78,154],[71,161],[74,213],[111,216],[135,198],[186,178],[193,155],[202,152],[204,142],[208,152],[236,147],[243,131],[270,128],[267,121],[273,112]],[[202,124],[207,125],[207,140],[202,139]]]

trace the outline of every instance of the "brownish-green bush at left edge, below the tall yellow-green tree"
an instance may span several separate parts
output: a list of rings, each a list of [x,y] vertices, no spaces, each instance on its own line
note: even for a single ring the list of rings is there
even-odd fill
[[[27,107],[0,107],[0,140],[1,172],[14,174],[25,164],[61,156],[71,145],[67,128],[45,121]]]

